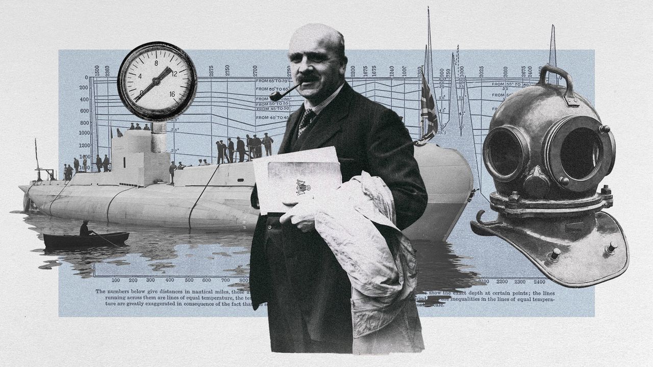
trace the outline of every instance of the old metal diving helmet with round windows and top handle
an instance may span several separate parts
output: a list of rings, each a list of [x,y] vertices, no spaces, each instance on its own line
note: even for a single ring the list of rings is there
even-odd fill
[[[545,82],[547,72],[566,88]],[[608,185],[614,136],[592,105],[573,91],[571,76],[545,65],[539,82],[510,95],[498,107],[483,143],[483,162],[494,178],[490,208],[471,221],[483,236],[499,236],[556,283],[586,287],[628,268],[626,236],[611,215]]]

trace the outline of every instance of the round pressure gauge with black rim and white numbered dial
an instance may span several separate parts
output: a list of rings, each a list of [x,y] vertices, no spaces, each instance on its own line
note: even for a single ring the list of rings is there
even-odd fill
[[[129,52],[118,72],[118,94],[128,110],[148,121],[179,116],[193,103],[195,65],[167,42],[142,44]]]

